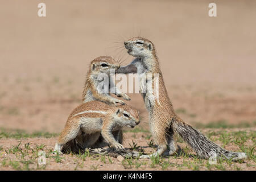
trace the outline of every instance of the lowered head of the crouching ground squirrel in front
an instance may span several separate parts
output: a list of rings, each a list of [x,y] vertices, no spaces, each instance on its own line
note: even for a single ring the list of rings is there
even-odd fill
[[[138,125],[140,121],[139,119],[139,111],[133,109],[131,106],[122,105],[118,106],[114,110],[114,120],[120,126],[126,126],[133,128]]]

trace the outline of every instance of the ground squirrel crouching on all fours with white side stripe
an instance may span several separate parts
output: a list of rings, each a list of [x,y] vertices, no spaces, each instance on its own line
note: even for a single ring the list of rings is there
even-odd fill
[[[110,106],[100,101],[90,101],[76,107],[69,115],[64,130],[55,144],[55,153],[79,152],[88,147],[97,148],[100,135],[111,146],[122,149],[122,144],[112,134],[122,127],[139,124],[139,112],[127,105]]]

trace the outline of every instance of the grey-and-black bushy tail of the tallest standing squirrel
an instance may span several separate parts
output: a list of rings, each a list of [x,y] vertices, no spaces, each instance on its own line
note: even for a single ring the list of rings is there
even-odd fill
[[[200,131],[193,129],[192,126],[183,122],[179,117],[175,116],[172,119],[172,129],[177,133],[185,142],[192,147],[197,155],[204,158],[217,158],[225,156],[227,159],[238,160],[246,158],[243,152],[231,152],[218,146],[216,143],[210,141]]]

